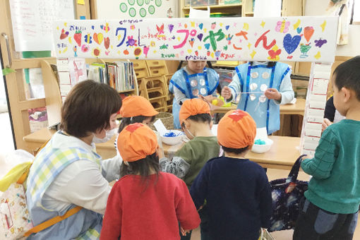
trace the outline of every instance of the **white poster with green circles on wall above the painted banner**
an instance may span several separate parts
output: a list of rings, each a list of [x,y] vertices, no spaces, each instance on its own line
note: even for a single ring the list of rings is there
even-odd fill
[[[177,4],[176,0],[97,0],[97,19],[177,18]]]

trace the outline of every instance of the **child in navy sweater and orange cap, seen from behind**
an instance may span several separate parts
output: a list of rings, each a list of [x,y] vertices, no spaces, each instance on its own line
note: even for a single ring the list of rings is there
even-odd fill
[[[224,157],[209,160],[193,181],[196,208],[208,211],[208,229],[201,239],[257,240],[269,227],[271,190],[263,167],[246,159],[256,136],[251,116],[239,109],[227,112],[217,127]]]

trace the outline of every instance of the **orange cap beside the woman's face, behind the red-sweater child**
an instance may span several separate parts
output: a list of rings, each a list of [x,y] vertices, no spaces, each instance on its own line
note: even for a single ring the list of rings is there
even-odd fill
[[[141,96],[125,97],[120,109],[120,115],[123,117],[155,116],[157,114],[159,114],[159,112],[152,107],[149,100]]]

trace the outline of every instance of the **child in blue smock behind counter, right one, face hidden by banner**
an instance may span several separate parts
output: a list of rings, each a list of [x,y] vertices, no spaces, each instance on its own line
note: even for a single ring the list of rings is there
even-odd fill
[[[289,65],[280,62],[248,62],[236,66],[232,83],[222,89],[222,97],[231,101],[241,94],[238,109],[248,112],[257,128],[268,134],[280,129],[280,104],[294,99]]]

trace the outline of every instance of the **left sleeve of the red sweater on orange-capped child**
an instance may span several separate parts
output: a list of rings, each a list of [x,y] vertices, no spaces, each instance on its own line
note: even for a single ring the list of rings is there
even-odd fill
[[[107,199],[107,208],[102,221],[100,240],[120,239],[121,236],[121,217],[122,200],[119,193],[119,181],[113,186]]]

